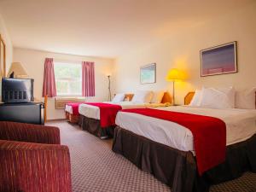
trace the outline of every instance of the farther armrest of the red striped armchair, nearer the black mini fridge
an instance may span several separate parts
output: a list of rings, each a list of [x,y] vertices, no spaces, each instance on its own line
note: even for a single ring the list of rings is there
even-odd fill
[[[60,130],[54,126],[0,121],[0,139],[31,143],[60,144]]]

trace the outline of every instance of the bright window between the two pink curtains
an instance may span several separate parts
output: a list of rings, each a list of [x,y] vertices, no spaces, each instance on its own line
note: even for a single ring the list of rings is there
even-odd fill
[[[82,65],[55,62],[57,96],[82,96]]]

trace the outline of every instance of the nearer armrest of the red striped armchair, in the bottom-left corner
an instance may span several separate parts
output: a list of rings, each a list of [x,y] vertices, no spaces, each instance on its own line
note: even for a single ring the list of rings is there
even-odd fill
[[[67,146],[0,140],[0,162],[0,191],[72,191]]]

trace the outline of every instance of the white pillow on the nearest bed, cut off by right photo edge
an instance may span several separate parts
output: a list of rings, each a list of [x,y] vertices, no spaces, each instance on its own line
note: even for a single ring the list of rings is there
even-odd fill
[[[237,91],[236,108],[255,109],[255,91],[256,87],[253,87],[252,89]]]

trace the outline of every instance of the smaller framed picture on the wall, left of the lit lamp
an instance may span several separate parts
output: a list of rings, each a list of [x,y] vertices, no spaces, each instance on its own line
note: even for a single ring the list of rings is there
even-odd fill
[[[156,69],[155,63],[141,67],[141,84],[155,83],[155,76],[156,76],[155,69]]]

